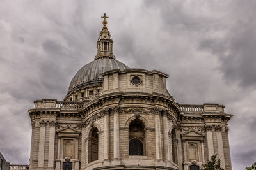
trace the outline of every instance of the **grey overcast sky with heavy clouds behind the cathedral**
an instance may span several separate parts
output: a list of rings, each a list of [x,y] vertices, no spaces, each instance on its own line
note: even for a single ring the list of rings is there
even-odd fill
[[[183,104],[232,113],[234,170],[256,162],[256,1],[10,1],[0,5],[0,152],[28,164],[35,99],[62,100],[96,55],[102,18],[117,60],[170,75]]]

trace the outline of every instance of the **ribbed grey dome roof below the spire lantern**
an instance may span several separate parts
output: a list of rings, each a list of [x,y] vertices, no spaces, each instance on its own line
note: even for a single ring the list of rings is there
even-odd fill
[[[77,71],[68,87],[68,92],[80,85],[93,83],[93,81],[97,80],[101,81],[102,76],[100,74],[113,69],[124,70],[129,69],[129,67],[115,59],[102,58],[93,60]]]

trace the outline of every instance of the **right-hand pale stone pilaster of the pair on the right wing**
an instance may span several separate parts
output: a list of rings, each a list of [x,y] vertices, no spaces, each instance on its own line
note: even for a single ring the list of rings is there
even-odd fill
[[[225,169],[225,157],[224,157],[224,150],[223,150],[223,140],[222,140],[222,127],[218,125],[215,127],[216,136],[217,136],[217,145],[218,145],[218,156],[221,160],[221,167]]]

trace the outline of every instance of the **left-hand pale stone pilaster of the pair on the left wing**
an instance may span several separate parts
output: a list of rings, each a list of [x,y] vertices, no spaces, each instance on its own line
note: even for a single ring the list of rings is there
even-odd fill
[[[45,145],[45,127],[46,122],[42,120],[40,122],[40,138],[39,138],[39,150],[38,150],[38,169],[44,169],[44,145]]]

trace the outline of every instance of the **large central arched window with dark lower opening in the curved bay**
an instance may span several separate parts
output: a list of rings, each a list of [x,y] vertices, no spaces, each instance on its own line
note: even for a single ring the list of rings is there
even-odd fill
[[[129,155],[145,153],[145,127],[140,120],[133,120],[129,124]]]

